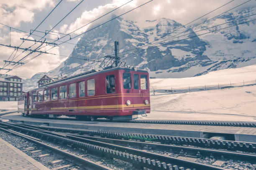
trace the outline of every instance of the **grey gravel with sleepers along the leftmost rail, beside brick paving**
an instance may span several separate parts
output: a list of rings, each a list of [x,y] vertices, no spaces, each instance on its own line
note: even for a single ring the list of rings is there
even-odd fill
[[[20,133],[22,133],[22,132],[20,132]],[[40,138],[41,142],[43,142],[43,143],[46,143],[46,144],[51,145],[53,147],[57,147],[58,149],[61,149],[61,150],[67,150],[67,152],[69,152],[69,153],[73,153],[75,155],[81,156],[81,157],[86,158],[88,160],[91,160],[95,163],[100,163],[101,165],[104,165],[104,166],[106,166],[108,168],[111,168],[113,170],[134,170],[134,167],[131,163],[127,163],[127,162],[122,161],[122,160],[118,160],[118,159],[103,160],[101,157],[97,158],[97,156],[93,156],[91,154],[88,154],[87,151],[82,149],[82,148],[75,148],[72,145],[63,144],[63,143],[57,142],[57,141],[52,142],[52,141],[47,140],[47,138],[42,139],[38,135],[32,135],[32,134],[29,134],[29,133],[26,133],[26,135],[30,135],[34,138]],[[20,149],[21,151],[24,150],[25,148],[29,148],[29,147],[35,147],[39,150],[38,145],[36,145],[36,144],[34,144],[34,143],[24,139],[24,138],[15,136],[13,134],[9,134],[9,133],[6,133],[6,132],[3,132],[3,131],[0,130],[0,136],[3,140],[5,140],[6,142],[15,146],[16,148]],[[72,147],[72,150],[70,149],[71,147]],[[43,152],[49,153],[47,151],[43,151]],[[37,154],[37,156],[45,154],[43,152],[41,152],[40,154]],[[30,153],[30,151],[25,151],[24,153],[31,156],[33,159],[37,160],[38,162],[42,163],[44,166],[46,166],[49,169],[55,168],[55,167],[51,166],[51,164],[50,164],[51,161],[62,159],[61,156],[57,156],[57,155],[52,156],[53,154],[51,154],[50,156],[47,156],[45,158],[38,159],[38,157],[37,156],[34,157],[34,155],[32,155]],[[63,160],[65,160],[65,159],[63,159]],[[67,161],[66,161],[66,163],[62,163],[62,164],[67,165],[67,164],[71,164],[71,163],[67,163]],[[60,166],[61,164],[58,164],[58,165]],[[67,170],[69,170],[69,169],[72,169],[72,167],[67,168]]]

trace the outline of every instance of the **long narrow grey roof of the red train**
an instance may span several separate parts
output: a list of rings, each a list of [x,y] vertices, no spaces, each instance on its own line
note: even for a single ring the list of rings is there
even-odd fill
[[[100,70],[100,71],[90,70],[90,71],[83,72],[83,73],[80,73],[80,74],[77,74],[77,75],[73,75],[71,77],[67,77],[67,78],[64,78],[64,79],[60,79],[60,80],[56,80],[54,82],[47,83],[45,85],[42,85],[41,87],[38,87],[38,88],[30,90],[30,91],[38,90],[38,89],[41,89],[41,88],[44,88],[44,87],[49,87],[51,85],[58,85],[60,83],[67,82],[68,80],[76,80],[78,78],[87,77],[89,75],[96,75],[96,74],[100,74],[102,72],[110,72],[110,71],[113,71],[113,70],[125,70],[125,71],[135,70],[135,71],[138,71],[138,72],[148,72],[147,70],[137,70],[136,67],[114,67],[114,68],[110,68],[110,69],[106,69],[106,70]]]

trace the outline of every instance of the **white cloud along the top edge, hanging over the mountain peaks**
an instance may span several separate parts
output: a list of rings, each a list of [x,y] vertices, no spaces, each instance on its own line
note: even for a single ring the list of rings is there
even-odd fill
[[[128,1],[129,0],[113,0],[109,4],[99,6],[90,11],[85,10],[79,18],[77,18],[73,23],[69,25],[68,28],[66,25],[65,27],[63,26],[63,28],[65,28],[66,33],[72,32],[73,30],[82,27],[90,21],[95,20],[101,15],[108,13],[109,11],[125,4]],[[206,13],[209,13],[210,11],[220,7],[221,5],[224,5],[229,1],[230,0],[154,0],[146,5],[143,5],[142,7],[139,7],[136,10],[131,11],[130,13],[123,15],[122,18],[137,21],[138,25],[140,25],[141,27],[143,27],[145,20],[155,20],[158,18],[170,18],[179,23],[187,24],[190,21],[195,20],[196,18],[199,18],[200,16]],[[120,9],[115,10],[113,13],[105,16],[104,19],[98,20],[97,22],[95,22],[95,25],[97,25],[97,23],[100,24],[104,21],[109,20],[113,14],[123,14],[126,11],[131,10],[134,7],[137,7],[145,2],[148,2],[148,0],[133,0],[124,7],[121,7]],[[235,0],[226,5],[225,7],[222,7],[219,10],[215,11],[214,13],[207,15],[206,17],[209,18],[211,16],[223,13],[225,10],[235,7],[236,5],[241,4],[243,2],[246,1]],[[242,5],[241,7],[248,7],[252,5],[250,3],[253,2],[248,2],[245,5]],[[89,25],[76,31],[75,33],[80,34],[84,32],[88,27]]]

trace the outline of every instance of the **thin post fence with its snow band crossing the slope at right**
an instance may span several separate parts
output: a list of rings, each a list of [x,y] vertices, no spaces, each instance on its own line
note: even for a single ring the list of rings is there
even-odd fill
[[[232,87],[242,87],[242,86],[249,86],[249,85],[256,85],[256,79],[252,81],[242,81],[239,83],[232,83],[229,82],[227,84],[216,84],[216,85],[205,85],[202,86],[190,86],[187,87],[172,87],[170,86],[169,89],[161,89],[159,87],[153,86],[150,87],[150,94],[151,95],[164,95],[164,94],[176,94],[176,93],[185,93],[185,92],[198,92],[198,91],[205,91],[205,90],[218,90],[218,89],[225,89],[225,88],[232,88]]]

